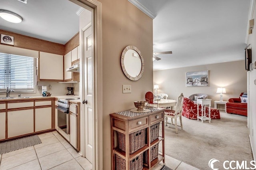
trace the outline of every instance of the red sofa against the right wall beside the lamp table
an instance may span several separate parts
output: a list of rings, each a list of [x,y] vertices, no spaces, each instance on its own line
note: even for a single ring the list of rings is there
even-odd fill
[[[242,96],[244,93],[241,93]],[[226,103],[227,113],[240,114],[243,116],[247,116],[247,103],[242,103],[239,98],[230,98]]]

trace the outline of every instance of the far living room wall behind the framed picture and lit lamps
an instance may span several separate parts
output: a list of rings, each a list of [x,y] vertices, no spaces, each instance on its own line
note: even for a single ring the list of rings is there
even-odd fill
[[[186,87],[186,72],[209,70],[208,87]],[[216,93],[218,87],[225,87],[226,94],[223,100],[238,97],[241,92],[247,92],[247,76],[244,68],[244,60],[207,64],[169,70],[154,71],[154,84],[159,85],[158,93],[166,93],[169,99],[175,99],[182,92],[185,97],[191,94],[204,93],[214,100],[220,100],[220,94]]]

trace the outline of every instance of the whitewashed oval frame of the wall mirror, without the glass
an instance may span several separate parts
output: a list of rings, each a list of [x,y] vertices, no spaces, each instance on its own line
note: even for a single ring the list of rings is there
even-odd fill
[[[128,74],[128,72],[126,71],[125,67],[124,67],[124,56],[126,54],[126,52],[128,50],[135,50],[139,56],[140,56],[140,60],[141,60],[141,71],[140,71],[140,74],[136,77],[132,77],[130,74]],[[136,46],[126,46],[126,48],[124,48],[123,52],[122,52],[122,55],[121,55],[121,67],[122,67],[122,70],[124,72],[124,75],[129,78],[130,80],[132,81],[136,81],[136,80],[139,80],[141,77],[142,77],[142,74],[144,72],[144,59],[142,57],[142,54],[140,52],[140,50],[136,47]]]

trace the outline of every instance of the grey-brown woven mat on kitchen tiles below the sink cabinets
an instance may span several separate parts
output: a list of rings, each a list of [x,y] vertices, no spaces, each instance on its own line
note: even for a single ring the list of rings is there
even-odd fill
[[[40,143],[42,143],[42,141],[37,135],[0,142],[0,154],[12,152],[14,150],[19,150]]]

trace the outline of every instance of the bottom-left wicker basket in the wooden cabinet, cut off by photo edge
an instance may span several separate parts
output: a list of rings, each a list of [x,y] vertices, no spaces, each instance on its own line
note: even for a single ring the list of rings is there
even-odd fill
[[[116,170],[125,170],[125,159],[116,155]],[[142,170],[143,169],[143,153],[130,161],[129,170]]]

